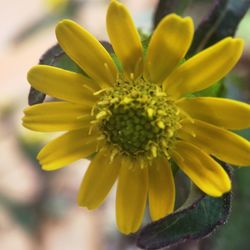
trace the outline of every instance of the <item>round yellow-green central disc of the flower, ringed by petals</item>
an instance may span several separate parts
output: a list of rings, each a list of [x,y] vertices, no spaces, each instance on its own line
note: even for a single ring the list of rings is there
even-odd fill
[[[120,153],[148,159],[170,157],[180,116],[174,101],[159,85],[142,78],[120,80],[102,93],[95,112],[107,143]]]

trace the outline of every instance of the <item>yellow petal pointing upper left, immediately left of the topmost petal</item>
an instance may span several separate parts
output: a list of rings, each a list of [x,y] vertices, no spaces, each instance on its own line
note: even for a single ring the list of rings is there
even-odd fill
[[[56,37],[68,56],[100,85],[112,86],[116,81],[116,67],[111,56],[88,31],[71,20],[63,20],[56,27]]]

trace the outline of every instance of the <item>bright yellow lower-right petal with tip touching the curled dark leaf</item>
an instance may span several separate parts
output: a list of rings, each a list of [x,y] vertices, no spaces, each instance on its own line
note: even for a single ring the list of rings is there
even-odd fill
[[[173,157],[204,193],[219,197],[231,189],[230,178],[220,164],[191,143],[177,142]]]

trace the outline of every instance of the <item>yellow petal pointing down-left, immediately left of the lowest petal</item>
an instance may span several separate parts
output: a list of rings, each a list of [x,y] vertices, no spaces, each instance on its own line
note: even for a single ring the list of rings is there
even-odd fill
[[[120,170],[120,161],[110,162],[110,152],[101,150],[91,161],[82,181],[78,204],[88,209],[99,207],[112,188]]]

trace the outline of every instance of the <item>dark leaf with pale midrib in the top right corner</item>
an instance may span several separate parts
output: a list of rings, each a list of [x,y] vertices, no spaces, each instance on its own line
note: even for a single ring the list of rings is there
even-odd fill
[[[188,57],[227,36],[234,36],[249,7],[250,0],[215,0],[208,16],[196,29]]]

